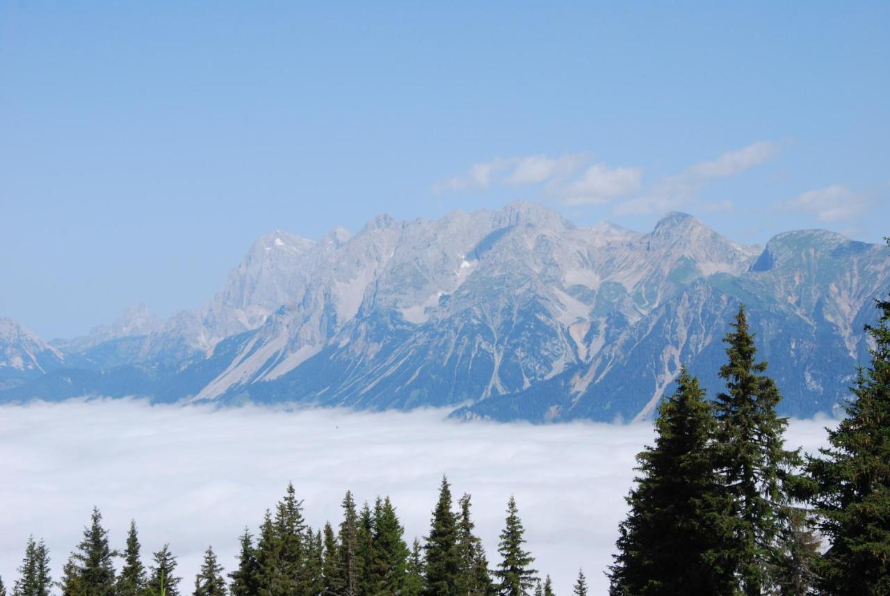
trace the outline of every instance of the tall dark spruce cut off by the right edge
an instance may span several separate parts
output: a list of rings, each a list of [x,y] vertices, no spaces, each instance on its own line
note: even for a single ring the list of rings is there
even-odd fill
[[[890,240],[888,240],[890,243]],[[877,301],[873,342],[830,447],[808,463],[829,549],[815,562],[826,594],[890,594],[890,300]]]

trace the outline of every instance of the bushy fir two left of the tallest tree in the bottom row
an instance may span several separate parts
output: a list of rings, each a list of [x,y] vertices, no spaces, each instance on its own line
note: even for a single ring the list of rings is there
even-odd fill
[[[369,574],[374,578],[371,593],[380,596],[401,594],[409,558],[408,545],[402,539],[404,533],[390,498],[387,496],[383,501],[377,499]]]

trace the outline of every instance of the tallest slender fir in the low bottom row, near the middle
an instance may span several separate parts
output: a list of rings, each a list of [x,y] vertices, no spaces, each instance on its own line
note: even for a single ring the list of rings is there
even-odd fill
[[[442,477],[439,501],[433,510],[426,552],[424,596],[457,596],[460,557],[457,552],[457,522],[451,511],[451,488]]]

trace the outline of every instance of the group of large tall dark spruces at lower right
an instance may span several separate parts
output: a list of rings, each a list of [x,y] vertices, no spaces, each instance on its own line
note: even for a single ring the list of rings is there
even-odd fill
[[[619,525],[611,596],[890,594],[890,301],[865,326],[860,367],[829,447],[783,447],[781,399],[740,307],[724,391],[685,369]]]

